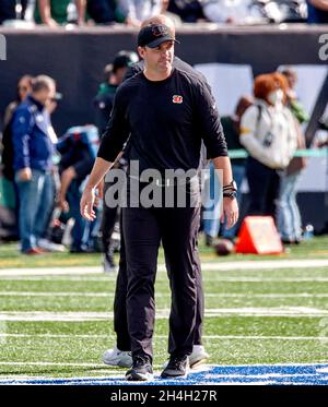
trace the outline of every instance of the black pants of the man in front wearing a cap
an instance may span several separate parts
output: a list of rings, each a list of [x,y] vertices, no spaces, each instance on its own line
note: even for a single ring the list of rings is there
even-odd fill
[[[198,193],[192,191],[189,195],[198,196]],[[172,355],[190,355],[192,351],[197,320],[197,279],[200,271],[199,260],[196,258],[199,218],[199,205],[122,208],[127,265],[126,315],[132,356],[147,355],[152,359],[153,355],[154,282],[161,241],[172,289],[168,351]],[[122,277],[119,274],[116,311],[119,299],[122,301],[119,290]],[[202,303],[202,296],[200,301]],[[122,319],[118,319],[118,314],[116,312],[115,328],[122,326]],[[202,315],[200,320],[201,318]],[[120,344],[119,340],[118,337],[118,347],[124,350],[128,343],[125,339]]]

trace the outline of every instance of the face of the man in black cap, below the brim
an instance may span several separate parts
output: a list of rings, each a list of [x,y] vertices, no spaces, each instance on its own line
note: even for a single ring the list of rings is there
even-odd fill
[[[174,57],[174,41],[165,41],[156,48],[139,47],[139,53],[144,60],[147,69],[157,73],[171,69]]]

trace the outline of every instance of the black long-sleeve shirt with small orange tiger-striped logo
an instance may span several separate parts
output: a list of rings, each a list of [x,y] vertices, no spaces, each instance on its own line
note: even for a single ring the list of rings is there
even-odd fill
[[[114,161],[129,136],[127,158],[140,171],[199,168],[201,136],[211,158],[227,155],[207,85],[178,69],[163,81],[140,72],[119,86],[98,157]]]

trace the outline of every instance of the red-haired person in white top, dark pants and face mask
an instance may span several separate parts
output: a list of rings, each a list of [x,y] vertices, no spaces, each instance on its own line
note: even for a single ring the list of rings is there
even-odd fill
[[[255,104],[243,115],[241,143],[249,156],[246,176],[249,185],[248,215],[277,219],[280,175],[297,146],[295,120],[284,106],[285,94],[274,74],[261,74],[254,83]]]

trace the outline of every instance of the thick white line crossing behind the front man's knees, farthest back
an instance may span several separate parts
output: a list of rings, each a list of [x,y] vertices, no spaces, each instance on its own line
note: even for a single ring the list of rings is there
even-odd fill
[[[235,270],[278,270],[278,268],[309,268],[328,267],[328,259],[301,260],[243,260],[238,262],[202,263],[203,271],[235,271]],[[166,271],[164,264],[159,264],[160,272]],[[328,270],[327,270],[328,271]],[[0,277],[30,275],[104,275],[102,267],[45,267],[45,268],[4,268],[0,270]]]

